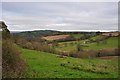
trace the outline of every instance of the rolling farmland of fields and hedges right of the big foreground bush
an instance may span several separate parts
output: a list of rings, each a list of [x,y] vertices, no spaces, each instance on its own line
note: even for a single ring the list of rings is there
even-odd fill
[[[47,32],[50,34],[46,34]],[[103,36],[95,32],[51,32],[49,30],[47,32],[38,31],[39,35],[36,31],[31,31],[13,35],[14,45],[16,45],[14,47],[17,51],[13,49],[14,47],[9,48],[15,51],[14,53],[19,52],[20,61],[23,60],[22,62],[26,64],[21,62],[24,66],[20,68],[24,71],[17,77],[119,77],[118,36]],[[32,33],[34,35],[28,36]],[[6,46],[4,47],[6,49]]]

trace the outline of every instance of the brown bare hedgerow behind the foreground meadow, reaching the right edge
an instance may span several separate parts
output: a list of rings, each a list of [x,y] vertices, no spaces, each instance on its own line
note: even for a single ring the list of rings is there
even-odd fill
[[[68,55],[69,54],[69,55]],[[102,50],[89,50],[89,51],[79,51],[79,52],[66,52],[61,53],[63,56],[70,56],[76,58],[96,58],[105,56],[119,56],[120,53],[117,48],[106,48]]]

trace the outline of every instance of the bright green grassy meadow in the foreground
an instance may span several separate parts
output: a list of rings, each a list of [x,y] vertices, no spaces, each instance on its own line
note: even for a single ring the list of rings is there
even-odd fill
[[[55,54],[21,49],[28,78],[117,77],[117,60],[57,58]]]

